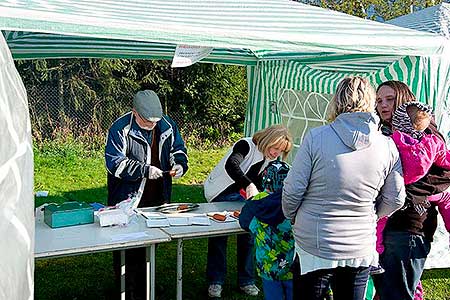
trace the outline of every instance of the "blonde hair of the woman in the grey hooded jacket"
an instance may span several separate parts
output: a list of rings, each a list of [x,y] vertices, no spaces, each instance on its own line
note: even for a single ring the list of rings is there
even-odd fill
[[[367,79],[360,76],[346,77],[339,82],[328,107],[328,120],[332,122],[342,113],[372,112],[375,99],[375,90]]]

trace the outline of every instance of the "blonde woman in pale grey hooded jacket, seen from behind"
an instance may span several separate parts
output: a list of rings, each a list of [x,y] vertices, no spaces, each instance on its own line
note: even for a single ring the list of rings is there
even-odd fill
[[[311,129],[284,182],[301,272],[295,299],[323,299],[328,285],[335,300],[365,298],[369,266],[378,263],[377,217],[405,199],[398,151],[378,130],[374,108],[366,79],[343,79],[330,103],[332,123]]]

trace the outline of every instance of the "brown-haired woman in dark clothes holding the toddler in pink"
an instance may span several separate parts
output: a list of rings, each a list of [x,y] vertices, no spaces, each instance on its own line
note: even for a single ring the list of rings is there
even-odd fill
[[[386,81],[378,87],[376,109],[382,120],[383,134],[392,134],[393,112],[401,104],[411,101],[416,98],[403,82]],[[434,121],[426,131],[443,139]],[[376,280],[381,300],[414,299],[437,226],[437,212],[427,201],[427,196],[440,193],[449,186],[450,172],[436,166],[432,166],[419,181],[406,185],[405,205],[389,218],[384,231],[385,251],[380,260],[385,273]]]

